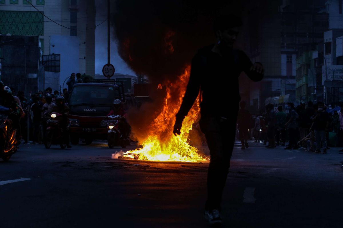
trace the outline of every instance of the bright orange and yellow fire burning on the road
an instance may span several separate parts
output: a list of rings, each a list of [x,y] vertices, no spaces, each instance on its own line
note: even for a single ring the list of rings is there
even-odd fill
[[[168,83],[163,110],[151,124],[149,128],[151,130],[147,132],[148,137],[142,143],[143,147],[141,149],[124,152],[124,158],[182,162],[206,160],[205,157],[199,155],[197,148],[187,143],[189,131],[192,129],[192,124],[198,118],[200,111],[199,98],[197,98],[193,107],[188,112],[187,117],[185,117],[182,123],[181,134],[175,136],[172,133],[175,115],[181,106],[182,97],[185,95],[189,74],[190,66],[185,69],[185,72],[179,77],[176,83]],[[175,99],[172,99],[172,94],[179,94],[179,98],[175,101]]]

